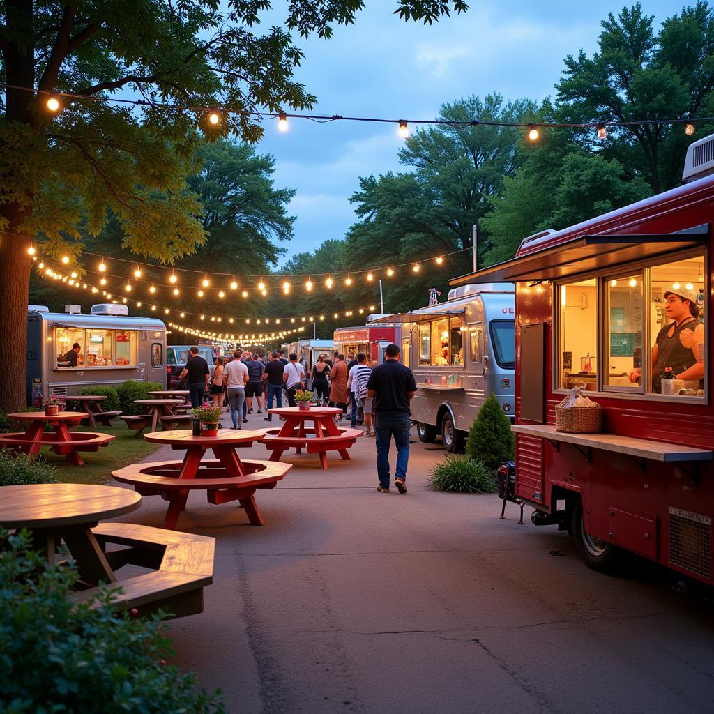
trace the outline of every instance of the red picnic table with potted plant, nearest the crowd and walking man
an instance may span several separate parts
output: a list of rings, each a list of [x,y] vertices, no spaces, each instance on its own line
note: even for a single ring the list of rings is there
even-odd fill
[[[301,409],[295,406],[268,409],[268,413],[285,418],[279,429],[266,429],[265,435],[258,441],[273,451],[270,461],[280,461],[289,448],[295,447],[296,453],[305,448],[307,453],[320,455],[320,467],[327,468],[327,452],[337,451],[344,461],[350,460],[348,448],[362,436],[361,429],[337,426],[335,417],[342,413],[341,408],[330,406],[311,406]],[[305,426],[311,421],[312,427]]]

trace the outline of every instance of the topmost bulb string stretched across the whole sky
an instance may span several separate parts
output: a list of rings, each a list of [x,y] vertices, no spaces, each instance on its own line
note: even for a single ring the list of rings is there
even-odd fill
[[[34,87],[17,86],[14,84],[0,84],[2,89],[13,89],[16,91],[26,91],[29,94],[45,99],[47,110],[51,114],[58,114],[67,101],[94,101],[103,102],[105,104],[124,104],[133,107],[150,107],[151,109],[169,109],[177,112],[192,112],[205,116],[208,123],[208,130],[211,127],[215,128],[223,119],[223,115],[240,114],[241,116],[252,116],[258,121],[266,119],[277,119],[278,129],[286,131],[288,128],[288,119],[308,119],[320,124],[328,121],[368,121],[379,124],[396,124],[400,136],[406,138],[408,136],[409,124],[430,124],[453,126],[456,129],[463,129],[468,126],[502,126],[515,127],[518,129],[528,129],[528,138],[531,141],[538,140],[538,129],[596,129],[598,130],[598,139],[604,139],[606,129],[615,127],[627,126],[663,126],[663,125],[678,125],[685,126],[685,133],[688,136],[694,133],[695,123],[703,123],[714,121],[711,116],[691,116],[687,118],[678,117],[677,119],[629,119],[623,121],[585,121],[585,122],[548,122],[548,121],[479,121],[478,119],[468,119],[464,121],[453,121],[449,119],[384,119],[381,117],[372,116],[342,116],[341,114],[289,114],[286,111],[248,111],[246,109],[236,109],[230,106],[202,106],[193,104],[171,104],[167,102],[150,101],[149,99],[121,99],[114,96],[96,96],[91,94],[78,94],[75,92],[53,92],[43,89],[35,89]],[[535,136],[531,136],[535,131]],[[603,136],[605,134],[605,136]]]

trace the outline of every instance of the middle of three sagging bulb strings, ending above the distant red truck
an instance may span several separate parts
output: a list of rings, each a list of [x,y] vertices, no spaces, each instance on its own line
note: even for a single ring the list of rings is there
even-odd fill
[[[121,291],[119,293],[112,293],[111,288],[109,290],[106,289],[106,286],[96,286],[92,284],[90,281],[85,281],[84,278],[81,278],[79,276],[79,273],[76,271],[71,271],[69,275],[61,272],[61,271],[66,271],[68,268],[67,266],[57,266],[54,265],[51,261],[49,261],[46,258],[39,258],[38,256],[33,256],[32,260],[36,263],[36,268],[39,273],[39,275],[43,278],[53,278],[54,280],[60,280],[64,283],[67,283],[69,286],[74,287],[74,288],[84,288],[84,290],[91,290],[92,293],[99,294],[103,297],[105,297],[107,300],[111,300],[113,303],[119,304],[119,303],[134,303],[137,308],[145,307],[148,308],[151,312],[157,312],[161,311],[161,313],[164,313],[164,315],[180,315],[181,318],[184,318],[186,315],[191,315],[194,317],[198,317],[201,321],[206,320],[206,314],[205,313],[194,313],[191,311],[185,311],[185,310],[180,310],[176,308],[169,308],[166,306],[161,306],[156,303],[148,303],[144,305],[144,302],[134,298],[133,296],[129,295],[121,295]],[[301,315],[301,316],[291,316],[291,317],[261,317],[261,318],[236,318],[234,316],[223,316],[223,315],[212,315],[210,317],[211,322],[223,322],[225,320],[228,324],[235,324],[236,322],[242,321],[246,325],[269,325],[269,324],[274,324],[274,325],[296,325],[296,324],[301,324],[301,323],[317,323],[317,322],[324,322],[328,318],[332,318],[333,320],[338,320],[341,317],[353,317],[357,315],[367,315],[375,310],[376,306],[375,305],[369,305],[369,306],[364,306],[360,308],[352,308],[351,310],[346,310],[346,311],[339,311],[335,313],[322,313],[322,314],[315,314],[315,315]]]

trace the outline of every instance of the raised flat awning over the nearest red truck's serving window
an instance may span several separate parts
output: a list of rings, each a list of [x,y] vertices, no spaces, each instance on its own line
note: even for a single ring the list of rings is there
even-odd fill
[[[708,237],[708,223],[678,233],[580,236],[542,251],[453,278],[449,284],[458,286],[464,283],[558,280],[598,268],[702,246]]]

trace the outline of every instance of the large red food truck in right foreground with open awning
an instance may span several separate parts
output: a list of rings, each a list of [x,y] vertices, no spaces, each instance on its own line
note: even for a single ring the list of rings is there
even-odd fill
[[[451,281],[516,283],[516,497],[596,570],[623,548],[714,584],[712,174],[709,136],[685,185]],[[573,386],[602,433],[556,431]]]

